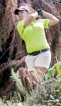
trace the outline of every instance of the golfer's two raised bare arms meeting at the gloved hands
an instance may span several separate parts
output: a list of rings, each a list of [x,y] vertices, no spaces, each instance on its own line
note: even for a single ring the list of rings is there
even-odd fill
[[[25,19],[25,22],[24,22],[24,27],[26,27],[27,25],[29,25],[34,19],[36,19],[38,17],[38,15],[43,15],[44,17],[46,18],[49,18],[50,19],[50,22],[49,22],[49,27],[50,26],[53,26],[55,24],[57,24],[59,22],[59,20],[52,14],[48,13],[48,12],[45,12],[43,10],[37,10],[35,11],[33,14],[30,14],[26,19]]]

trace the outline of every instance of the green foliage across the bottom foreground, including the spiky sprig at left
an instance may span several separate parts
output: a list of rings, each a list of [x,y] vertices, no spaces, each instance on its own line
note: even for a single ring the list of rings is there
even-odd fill
[[[10,101],[6,101],[6,104],[0,100],[0,104],[3,106],[61,106],[61,63],[58,62],[50,68],[45,79],[42,82],[43,91],[39,92],[32,89],[30,93],[24,88],[21,79],[19,78],[18,71],[15,73],[12,68],[12,78],[16,83],[18,91],[14,91],[14,97]],[[57,75],[54,77],[55,73]],[[24,96],[24,102],[21,104],[22,97]],[[19,105],[18,105],[19,102]]]

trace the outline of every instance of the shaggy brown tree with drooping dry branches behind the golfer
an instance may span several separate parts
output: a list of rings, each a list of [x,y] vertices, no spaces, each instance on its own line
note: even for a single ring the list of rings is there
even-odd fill
[[[7,95],[6,99],[16,90],[10,78],[10,67],[14,66],[15,71],[24,67],[24,56],[27,54],[25,43],[16,30],[19,18],[14,14],[22,2],[31,3],[35,10],[41,7],[60,20],[59,24],[45,32],[52,52],[51,65],[61,61],[61,4],[50,0],[0,0],[0,96]]]

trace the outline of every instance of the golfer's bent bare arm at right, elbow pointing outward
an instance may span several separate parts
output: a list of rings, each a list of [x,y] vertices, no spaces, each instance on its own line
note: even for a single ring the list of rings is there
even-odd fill
[[[48,12],[43,12],[42,14],[44,17],[49,18],[50,22],[49,22],[49,27],[53,26],[55,24],[57,24],[59,22],[59,19],[57,19],[54,15],[48,13]]]

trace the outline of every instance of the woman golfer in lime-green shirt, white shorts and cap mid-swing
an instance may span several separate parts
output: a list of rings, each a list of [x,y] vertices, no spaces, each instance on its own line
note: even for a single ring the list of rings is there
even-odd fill
[[[33,10],[28,4],[23,4],[15,10],[15,14],[20,17],[17,30],[21,38],[25,41],[28,55],[25,58],[27,69],[30,72],[32,81],[37,82],[33,76],[35,69],[43,80],[44,75],[51,62],[50,47],[45,36],[45,28],[49,28],[59,22],[52,14],[42,9]],[[45,19],[38,19],[39,15]],[[34,87],[37,89],[37,87]]]

